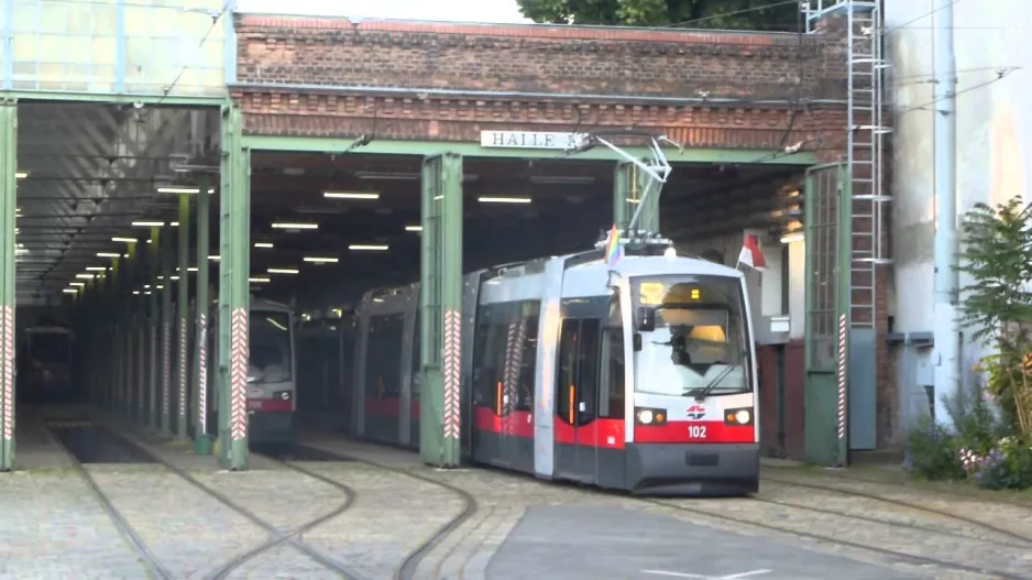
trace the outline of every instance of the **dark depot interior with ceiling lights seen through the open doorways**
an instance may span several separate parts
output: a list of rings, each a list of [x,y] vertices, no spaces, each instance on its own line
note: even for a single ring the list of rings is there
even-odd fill
[[[98,253],[127,251],[128,242],[114,238],[134,238],[138,248],[146,247],[150,229],[133,221],[178,219],[178,196],[161,194],[160,187],[197,185],[196,172],[175,171],[174,157],[182,153],[175,144],[152,135],[130,146],[125,132],[116,128],[171,111],[20,107],[19,169],[28,176],[19,180],[18,197],[19,328],[65,326],[76,335],[70,349],[54,337],[21,348],[21,365],[31,368],[35,357],[67,357],[65,349],[73,353],[73,369],[96,362],[86,360],[90,328],[84,322],[91,319],[74,308],[75,293],[94,283],[88,276],[110,266],[110,259]],[[217,122],[217,113],[211,117]],[[593,247],[612,226],[615,165],[561,152],[546,160],[464,157],[463,270]],[[418,281],[421,167],[420,156],[361,150],[252,153],[251,292],[289,304],[297,314],[299,411],[345,412],[351,310],[367,289]],[[209,253],[215,256],[220,251],[218,175],[211,179]],[[801,168],[776,162],[674,163],[662,189],[661,231],[693,250],[746,228],[784,232],[802,220],[800,198],[792,196],[801,179]],[[191,207],[196,211],[196,203]],[[185,231],[182,225],[166,227],[163,234],[175,239],[178,231]],[[195,242],[191,227],[191,269],[198,265]],[[709,252],[705,258],[733,265],[736,255]],[[213,300],[219,262],[211,259],[204,266]],[[150,281],[151,286],[160,283]],[[138,284],[139,294],[122,299],[145,299],[152,289]],[[193,299],[193,277],[189,293]],[[22,384],[20,398],[31,400]],[[48,402],[85,402],[87,392],[87,381],[77,379],[72,392]]]

